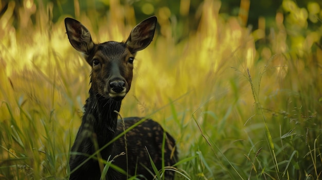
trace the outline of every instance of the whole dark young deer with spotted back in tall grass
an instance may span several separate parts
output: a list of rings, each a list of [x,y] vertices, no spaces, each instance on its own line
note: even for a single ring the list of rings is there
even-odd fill
[[[65,18],[65,26],[71,46],[82,52],[86,62],[92,67],[90,96],[86,99],[82,124],[71,147],[70,179],[100,179],[102,167],[99,166],[97,157],[111,161],[122,152],[125,155],[115,157],[112,164],[126,173],[110,167],[106,179],[127,179],[131,176],[153,179],[154,170],[150,158],[158,170],[174,165],[177,159],[174,139],[170,134],[164,133],[163,128],[152,119],[146,119],[127,132],[126,138],[121,136],[97,153],[95,158],[87,159],[124,129],[142,119],[124,118],[123,125],[117,121],[117,112],[131,87],[134,56],[151,43],[156,17],[150,17],[135,26],[127,41],[122,43],[109,41],[95,44],[90,32],[72,18]],[[174,173],[167,170],[164,176],[165,179],[173,179]]]

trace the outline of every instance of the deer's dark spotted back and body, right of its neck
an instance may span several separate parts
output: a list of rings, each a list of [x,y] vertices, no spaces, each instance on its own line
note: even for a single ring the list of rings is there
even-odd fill
[[[118,121],[116,136],[136,124],[142,118],[128,117],[122,121]],[[163,138],[166,138],[163,149]],[[158,170],[162,169],[162,153],[164,152],[165,166],[173,166],[177,159],[175,149],[175,141],[173,137],[157,122],[152,119],[146,119],[142,124],[126,133],[126,136],[121,136],[114,143],[114,155],[125,152],[125,155],[118,156],[114,160],[114,165],[121,167],[129,175],[142,174],[147,179],[152,179],[153,176],[147,171],[147,168],[154,173],[149,155],[153,160],[154,165]],[[165,179],[173,179],[173,171],[166,171]]]

